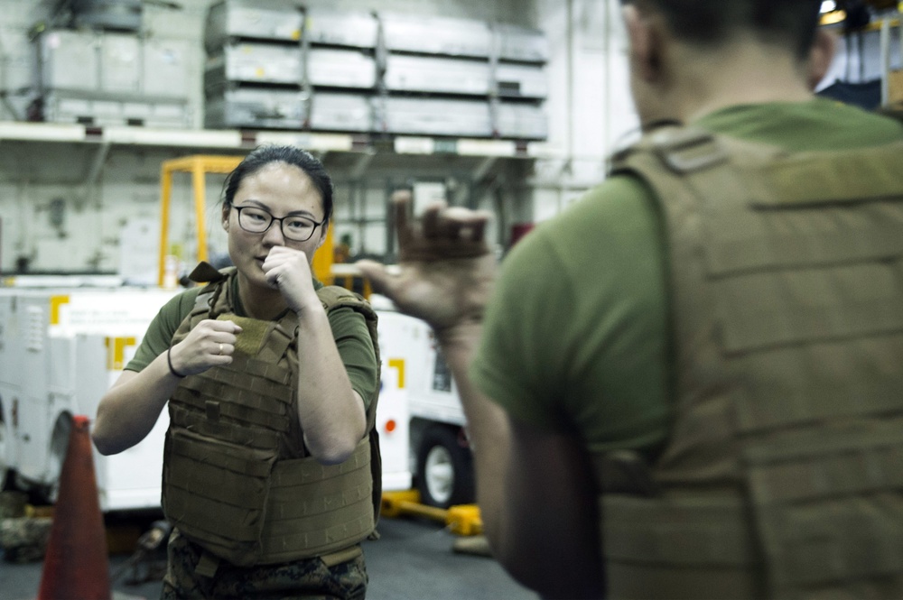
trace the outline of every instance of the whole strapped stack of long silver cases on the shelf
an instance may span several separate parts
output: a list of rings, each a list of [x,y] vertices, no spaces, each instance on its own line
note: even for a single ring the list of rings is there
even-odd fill
[[[258,4],[209,9],[208,127],[546,137],[542,32]]]

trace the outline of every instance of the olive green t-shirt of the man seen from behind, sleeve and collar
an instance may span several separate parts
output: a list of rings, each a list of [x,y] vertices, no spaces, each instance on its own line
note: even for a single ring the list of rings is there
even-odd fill
[[[832,100],[732,106],[694,123],[820,151],[889,143],[903,125]],[[470,376],[517,420],[576,430],[592,452],[668,432],[667,256],[651,191],[605,180],[537,226],[501,265]]]

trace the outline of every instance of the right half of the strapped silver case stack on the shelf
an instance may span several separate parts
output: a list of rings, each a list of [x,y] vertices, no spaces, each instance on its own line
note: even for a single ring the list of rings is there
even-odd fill
[[[542,32],[446,17],[380,20],[386,132],[545,139]]]

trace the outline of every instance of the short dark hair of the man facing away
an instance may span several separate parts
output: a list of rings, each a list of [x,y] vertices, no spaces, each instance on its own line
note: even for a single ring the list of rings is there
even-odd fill
[[[815,41],[820,0],[625,0],[666,18],[675,36],[699,46],[717,46],[738,31],[763,42],[791,44],[805,59]]]

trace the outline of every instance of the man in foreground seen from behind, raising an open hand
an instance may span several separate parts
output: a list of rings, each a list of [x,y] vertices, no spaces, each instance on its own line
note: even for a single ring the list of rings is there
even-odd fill
[[[396,198],[492,552],[547,598],[903,597],[903,124],[818,0],[623,7],[643,138],[518,242]]]

